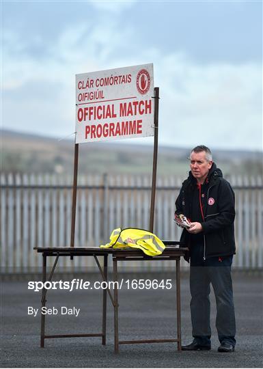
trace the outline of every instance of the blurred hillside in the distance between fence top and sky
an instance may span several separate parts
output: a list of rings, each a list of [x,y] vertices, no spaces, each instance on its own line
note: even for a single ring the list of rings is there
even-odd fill
[[[117,144],[116,144],[117,142]],[[2,172],[57,173],[72,175],[74,140],[1,131]],[[191,148],[159,146],[158,176],[186,176]],[[81,174],[151,174],[153,146],[114,143],[80,145]],[[213,150],[214,161],[225,175],[262,174],[262,152]]]

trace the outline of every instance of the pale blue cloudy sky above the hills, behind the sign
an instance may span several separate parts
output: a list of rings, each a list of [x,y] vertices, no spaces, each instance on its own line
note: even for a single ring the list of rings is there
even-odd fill
[[[69,135],[75,74],[153,63],[161,145],[262,150],[261,0],[3,0],[1,51],[2,128]]]

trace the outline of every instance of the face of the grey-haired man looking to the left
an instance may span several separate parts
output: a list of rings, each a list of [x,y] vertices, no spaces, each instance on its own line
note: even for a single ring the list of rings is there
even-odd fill
[[[203,183],[212,167],[212,161],[207,161],[206,152],[192,152],[190,155],[190,168],[197,182]]]

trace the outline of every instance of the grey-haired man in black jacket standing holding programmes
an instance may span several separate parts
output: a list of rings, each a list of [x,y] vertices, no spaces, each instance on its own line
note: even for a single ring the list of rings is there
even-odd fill
[[[189,178],[182,183],[176,213],[191,221],[181,241],[189,247],[191,321],[193,342],[184,351],[210,350],[210,284],[217,303],[216,327],[219,352],[234,351],[236,323],[231,264],[235,254],[234,192],[212,162],[206,146],[196,146],[190,155]]]

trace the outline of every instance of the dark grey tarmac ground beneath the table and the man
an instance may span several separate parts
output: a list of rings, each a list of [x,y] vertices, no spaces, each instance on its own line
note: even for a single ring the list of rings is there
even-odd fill
[[[126,279],[135,275],[122,275]],[[145,279],[168,279],[155,274]],[[141,276],[140,276],[141,278]],[[63,280],[72,278],[64,277]],[[36,280],[36,279],[29,279]],[[40,279],[38,279],[40,280]],[[85,275],[89,280],[89,275]],[[90,277],[92,281],[92,277]],[[54,338],[40,348],[41,292],[27,287],[26,280],[1,283],[1,368],[261,368],[262,367],[262,275],[234,273],[236,351],[218,353],[216,308],[211,289],[212,350],[177,351],[174,343],[123,344],[114,353],[113,306],[107,299],[107,344],[101,338]],[[92,281],[94,282],[94,280]],[[172,288],[118,290],[119,339],[143,340],[176,336],[175,281]],[[102,325],[102,290],[50,290],[47,308],[80,308],[78,316],[47,315],[46,334],[99,333]],[[191,342],[189,277],[182,274],[182,342]],[[28,307],[39,309],[36,317]]]

